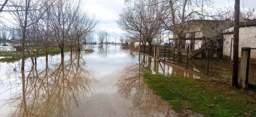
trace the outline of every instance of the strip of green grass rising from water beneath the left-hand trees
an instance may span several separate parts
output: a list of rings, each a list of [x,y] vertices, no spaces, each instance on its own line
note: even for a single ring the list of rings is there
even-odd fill
[[[68,52],[70,51],[69,48],[64,48],[64,52]],[[54,55],[54,54],[59,54],[61,53],[60,48],[56,47],[53,48],[49,54]],[[38,52],[38,56],[45,56],[46,53],[43,50],[39,50]],[[5,58],[1,58],[0,62],[14,62],[17,60],[20,60],[22,58],[22,54],[21,52],[9,52],[9,51],[0,51],[0,56],[1,57],[5,57]],[[29,57],[28,53],[25,53],[25,57]]]

